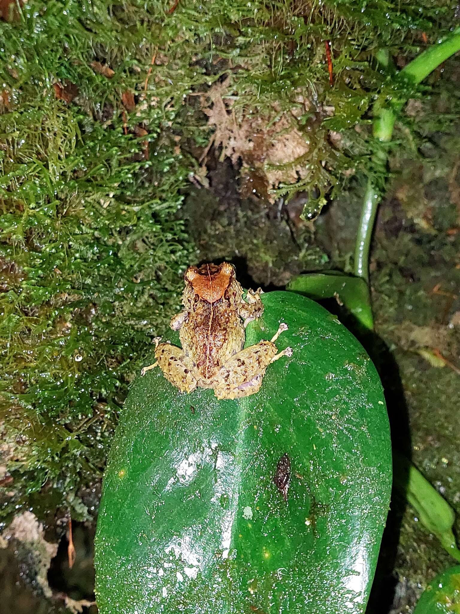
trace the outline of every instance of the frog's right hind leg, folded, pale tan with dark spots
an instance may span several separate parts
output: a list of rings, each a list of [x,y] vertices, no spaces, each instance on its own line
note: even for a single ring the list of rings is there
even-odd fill
[[[260,341],[228,359],[217,375],[217,384],[214,387],[216,397],[240,398],[258,392],[268,365],[282,356],[293,354],[291,348],[278,352],[275,346],[275,341],[284,330],[288,330],[287,325],[280,324],[271,341]]]

